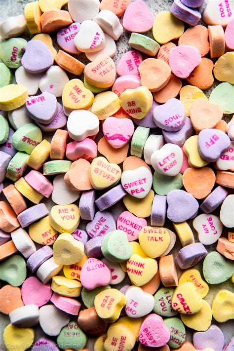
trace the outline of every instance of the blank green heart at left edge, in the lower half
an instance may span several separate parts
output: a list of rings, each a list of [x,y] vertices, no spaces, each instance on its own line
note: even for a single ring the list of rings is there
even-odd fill
[[[10,256],[0,263],[0,279],[12,286],[20,286],[26,278],[26,263],[23,257]]]

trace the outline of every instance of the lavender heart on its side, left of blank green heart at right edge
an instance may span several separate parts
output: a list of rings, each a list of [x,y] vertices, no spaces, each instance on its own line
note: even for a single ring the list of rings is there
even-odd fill
[[[175,260],[178,266],[184,270],[195,266],[207,254],[204,245],[201,242],[195,242],[195,244],[182,247]]]

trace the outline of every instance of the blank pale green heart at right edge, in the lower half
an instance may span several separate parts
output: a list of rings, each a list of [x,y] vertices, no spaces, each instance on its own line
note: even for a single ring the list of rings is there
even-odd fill
[[[212,251],[205,257],[202,270],[207,283],[219,284],[231,278],[234,273],[234,262]]]

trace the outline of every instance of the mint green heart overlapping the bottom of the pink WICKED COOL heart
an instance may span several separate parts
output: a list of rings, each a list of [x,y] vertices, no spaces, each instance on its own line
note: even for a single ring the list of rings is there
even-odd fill
[[[102,242],[102,253],[112,262],[123,262],[132,256],[132,247],[129,244],[127,234],[116,230],[106,234]]]

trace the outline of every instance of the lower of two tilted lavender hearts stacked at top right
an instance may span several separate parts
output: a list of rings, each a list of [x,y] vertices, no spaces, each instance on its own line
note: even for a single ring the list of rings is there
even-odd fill
[[[197,25],[201,19],[199,11],[185,6],[181,0],[174,0],[170,8],[171,13],[180,20],[190,24],[191,26]]]

